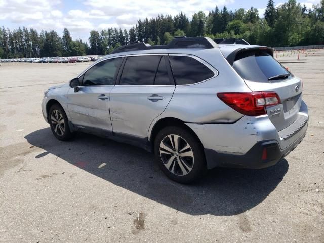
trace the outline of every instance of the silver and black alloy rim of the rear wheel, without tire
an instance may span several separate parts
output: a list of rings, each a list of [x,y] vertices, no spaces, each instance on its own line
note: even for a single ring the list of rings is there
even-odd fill
[[[194,156],[189,143],[176,134],[162,139],[159,148],[165,167],[177,176],[187,175],[193,168]]]

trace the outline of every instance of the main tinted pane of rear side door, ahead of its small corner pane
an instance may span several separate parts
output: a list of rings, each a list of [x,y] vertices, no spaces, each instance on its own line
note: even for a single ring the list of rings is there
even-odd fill
[[[160,56],[128,57],[120,85],[153,85],[160,59]]]

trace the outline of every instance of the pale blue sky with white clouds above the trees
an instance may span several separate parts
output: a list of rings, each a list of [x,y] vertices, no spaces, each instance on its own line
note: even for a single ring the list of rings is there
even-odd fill
[[[307,7],[320,0],[300,2]],[[19,26],[40,30],[54,29],[62,35],[66,27],[73,39],[87,41],[93,29],[126,28],[134,26],[139,18],[157,17],[158,14],[176,15],[181,11],[189,19],[194,12],[209,11],[217,5],[232,11],[251,6],[263,17],[268,0],[0,0],[0,26],[16,29]],[[280,0],[275,5],[285,2]],[[299,1],[298,1],[299,2]]]

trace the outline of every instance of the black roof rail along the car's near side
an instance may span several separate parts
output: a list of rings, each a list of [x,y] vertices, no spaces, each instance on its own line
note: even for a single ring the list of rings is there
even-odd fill
[[[185,37],[179,36],[171,40],[168,45],[151,46],[144,42],[131,43],[118,47],[110,54],[137,50],[151,50],[151,49],[171,49],[171,48],[217,48],[218,45],[209,37]]]

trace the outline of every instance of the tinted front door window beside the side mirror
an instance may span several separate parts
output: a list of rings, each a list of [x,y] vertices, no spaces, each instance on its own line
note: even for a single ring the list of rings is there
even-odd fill
[[[83,85],[113,85],[122,58],[99,62],[84,75]]]

